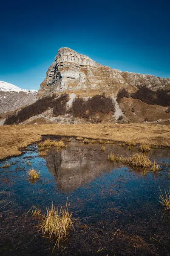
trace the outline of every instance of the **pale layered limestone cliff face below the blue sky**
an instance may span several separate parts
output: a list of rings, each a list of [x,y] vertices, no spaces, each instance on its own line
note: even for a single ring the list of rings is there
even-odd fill
[[[121,87],[135,91],[142,85],[151,90],[169,89],[170,78],[122,72],[103,66],[88,56],[64,47],[58,50],[54,63],[48,68],[38,96],[66,90],[91,89],[111,90],[112,93],[116,93]]]

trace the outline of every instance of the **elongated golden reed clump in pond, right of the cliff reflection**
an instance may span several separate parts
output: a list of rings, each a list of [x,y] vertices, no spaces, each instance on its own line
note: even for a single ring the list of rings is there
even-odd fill
[[[149,168],[150,166],[152,166],[152,162],[147,156],[143,154],[133,154],[133,156],[131,157],[123,157],[111,153],[110,155],[108,155],[108,160],[113,162],[116,161],[120,163],[125,163],[137,168]]]

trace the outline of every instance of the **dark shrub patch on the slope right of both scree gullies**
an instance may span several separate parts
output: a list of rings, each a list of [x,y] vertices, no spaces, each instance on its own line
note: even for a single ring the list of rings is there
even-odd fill
[[[149,105],[160,105],[163,107],[170,106],[170,95],[167,90],[157,90],[153,91],[147,88],[146,86],[141,86],[136,93],[129,95],[126,89],[119,90],[117,94],[117,102],[120,102],[122,98],[132,97],[133,99],[140,99],[142,102],[145,102]]]

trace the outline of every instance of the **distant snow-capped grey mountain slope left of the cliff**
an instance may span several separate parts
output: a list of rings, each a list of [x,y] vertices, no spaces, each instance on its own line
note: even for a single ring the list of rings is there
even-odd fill
[[[36,97],[36,90],[21,89],[14,84],[0,81],[0,113],[14,111],[33,102]]]

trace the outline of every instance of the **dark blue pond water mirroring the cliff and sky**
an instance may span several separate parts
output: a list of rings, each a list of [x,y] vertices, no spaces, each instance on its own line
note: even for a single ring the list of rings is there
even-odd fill
[[[135,249],[129,251],[127,245],[123,249],[116,240],[117,247],[112,244],[110,248],[113,241],[110,239],[106,248],[105,244],[99,242],[100,239],[102,241],[102,237],[99,239],[98,235],[98,249],[102,247],[98,252],[94,241],[87,239],[88,242],[84,245],[80,239],[79,244],[75,242],[74,246],[71,242],[72,247],[68,244],[63,245],[62,249],[57,251],[57,255],[170,255],[170,218],[159,204],[160,189],[164,191],[170,186],[170,149],[151,150],[148,156],[152,161],[154,159],[168,164],[156,174],[147,172],[146,175],[142,175],[139,170],[108,161],[110,152],[127,156],[136,153],[136,147],[128,150],[127,147],[107,144],[106,151],[102,151],[99,144],[84,145],[74,139],[67,142],[67,145],[68,148],[59,152],[51,148],[47,156],[40,157],[38,146],[34,144],[28,146],[22,155],[8,159],[10,167],[0,169],[1,223],[6,221],[11,212],[13,215],[21,216],[32,206],[45,212],[46,207],[52,202],[56,206],[64,206],[68,200],[69,212],[72,212],[75,220],[79,220],[80,226],[89,227],[88,234],[101,223],[107,223],[107,227],[102,227],[103,232],[109,227],[109,237],[111,233],[113,236],[116,230],[123,230],[140,236],[150,247],[146,251],[146,248],[139,248],[138,251],[139,246],[135,248],[133,243],[130,246]],[[1,161],[0,167],[5,164],[6,160]],[[27,176],[28,169],[32,168],[40,170],[41,173],[40,180],[35,183],[31,183]],[[87,231],[83,230],[79,228],[79,232],[86,232],[87,235]],[[2,239],[5,244],[8,240],[8,237]],[[48,255],[47,251],[43,254],[40,248],[34,248],[33,253],[33,250],[28,250],[28,245],[26,254],[25,247],[21,244],[22,242],[19,251],[14,242],[9,248],[1,246],[0,255]],[[87,249],[87,245],[90,249]]]

